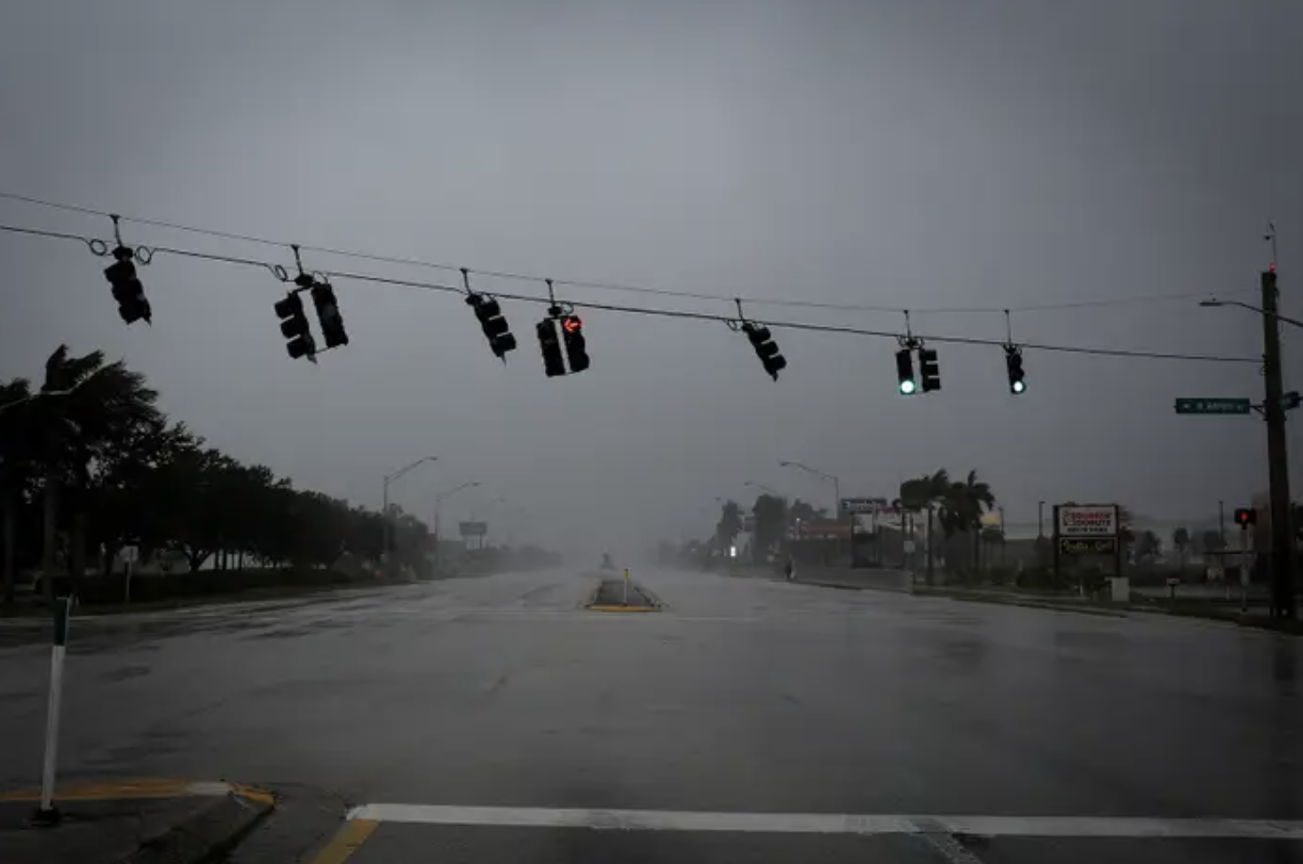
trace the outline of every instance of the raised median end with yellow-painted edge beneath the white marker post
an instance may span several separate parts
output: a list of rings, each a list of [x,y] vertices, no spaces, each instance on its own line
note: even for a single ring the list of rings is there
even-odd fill
[[[227,781],[132,778],[0,792],[5,864],[190,864],[216,860],[278,807],[266,788]]]

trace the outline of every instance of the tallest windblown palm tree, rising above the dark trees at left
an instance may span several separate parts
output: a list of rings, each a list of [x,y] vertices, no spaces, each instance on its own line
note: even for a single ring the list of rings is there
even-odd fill
[[[69,575],[76,589],[85,569],[85,493],[91,467],[141,426],[160,422],[158,391],[122,361],[106,364],[100,351],[74,357],[68,345],[60,345],[46,361],[40,392],[48,397],[29,404],[35,461],[44,472],[42,569],[48,576],[55,568],[59,495],[65,489],[73,503]],[[52,598],[53,580],[47,577],[46,584]]]

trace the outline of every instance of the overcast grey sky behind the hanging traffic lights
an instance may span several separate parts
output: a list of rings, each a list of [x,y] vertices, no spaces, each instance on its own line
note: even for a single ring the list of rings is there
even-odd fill
[[[1299,44],[1296,0],[12,3],[0,190],[481,270],[909,308],[924,334],[997,339],[998,313],[924,310],[1253,289],[1270,218],[1303,314]],[[0,222],[108,228],[12,202]],[[289,262],[156,228],[126,240]],[[906,400],[890,340],[775,330],[774,383],[722,324],[581,309],[593,366],[546,379],[538,306],[506,304],[521,347],[504,367],[459,298],[340,280],[352,344],[314,367],[285,357],[265,272],[160,255],[154,326],[128,328],[83,249],[0,235],[0,375],[39,375],[60,341],[103,348],[300,486],[377,506],[382,474],[433,454],[395,486],[405,507],[429,516],[438,489],[478,480],[481,503],[503,494],[563,543],[704,533],[748,480],[831,503],[782,459],[868,495],[976,468],[1014,521],[1038,499],[1203,517],[1265,485],[1259,422],[1171,408],[1259,396],[1251,365],[1028,352],[1014,399],[997,348],[937,345],[943,390]],[[1012,321],[1024,341],[1260,352],[1256,315],[1192,300]],[[477,499],[457,502],[446,519]]]

